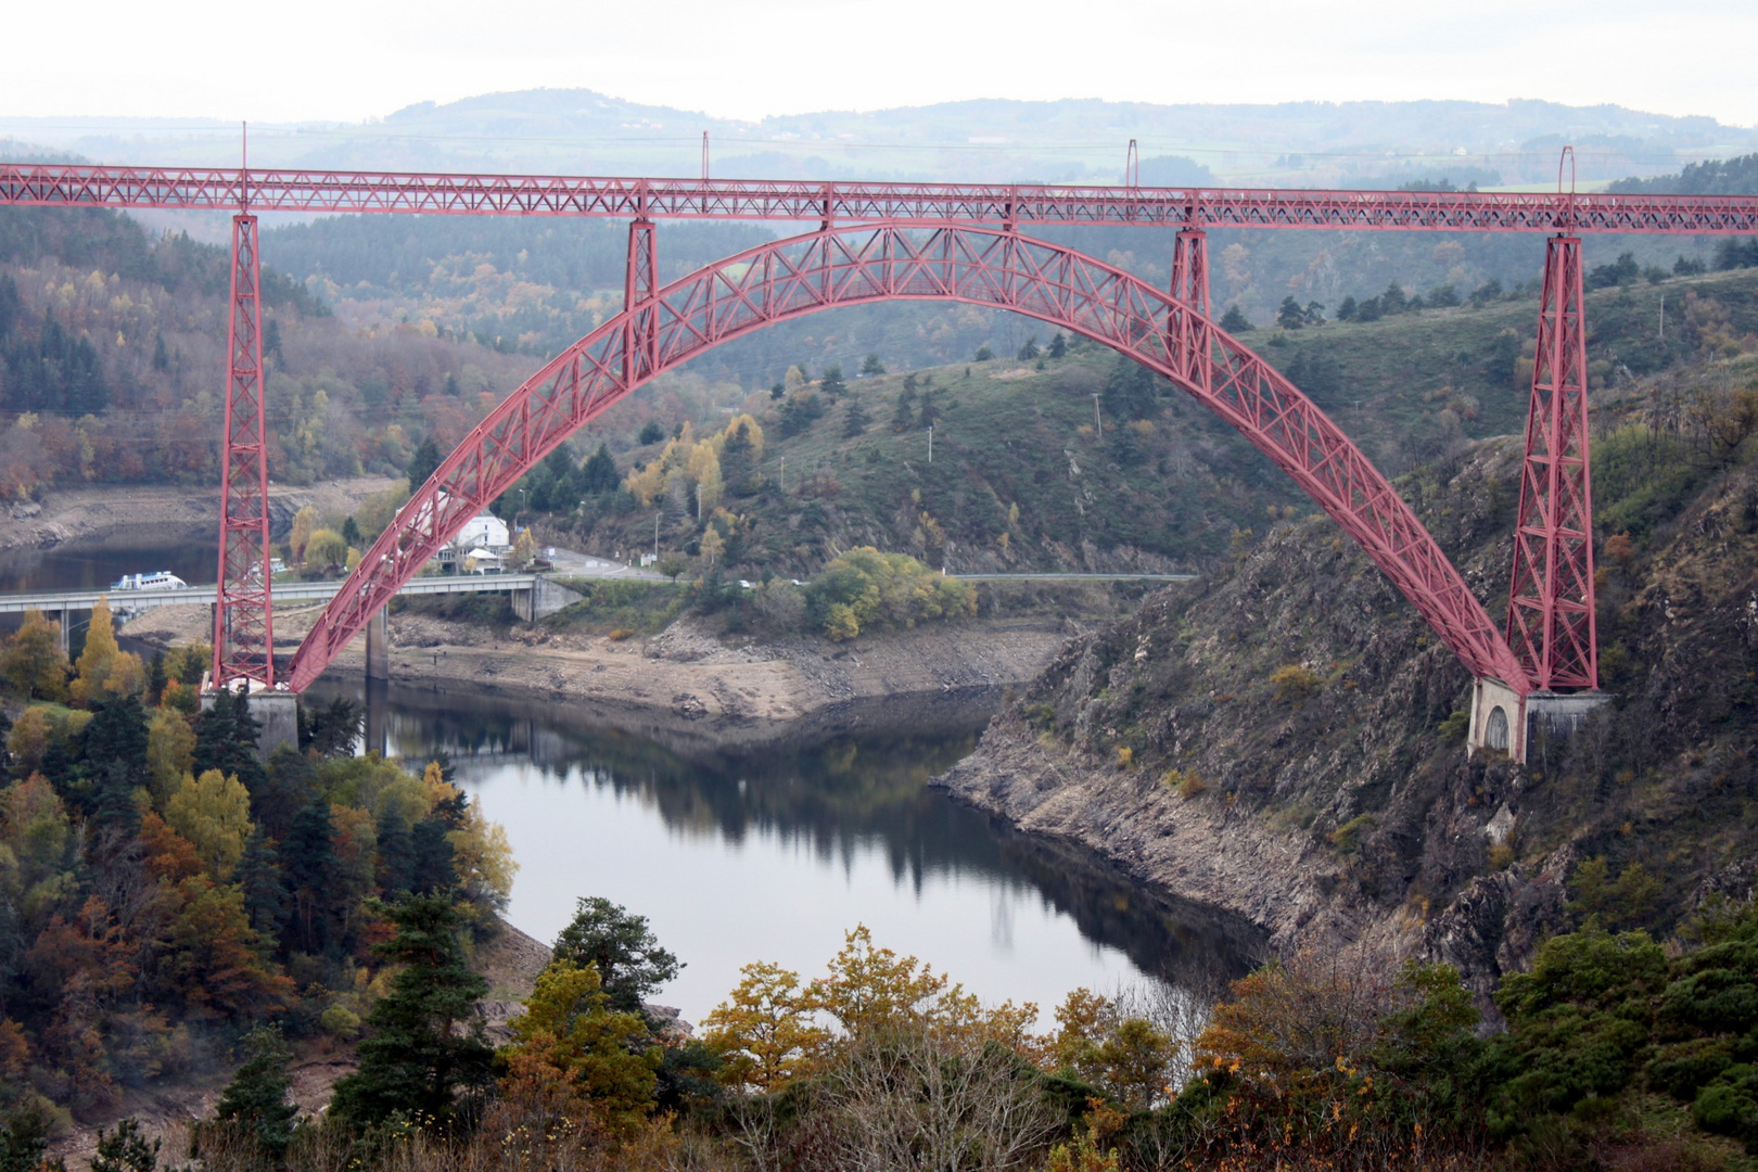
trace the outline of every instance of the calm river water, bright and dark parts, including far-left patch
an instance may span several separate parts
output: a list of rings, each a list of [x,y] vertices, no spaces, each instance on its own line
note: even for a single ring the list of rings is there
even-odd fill
[[[0,557],[0,590],[213,578],[207,543],[151,539]],[[360,684],[313,692],[360,698]],[[657,1000],[691,1021],[779,961],[823,972],[844,931],[914,954],[986,1002],[1050,1009],[1078,986],[1185,984],[1243,970],[1243,924],[1132,886],[1072,847],[1011,831],[928,778],[976,745],[997,694],[900,699],[779,743],[716,743],[638,713],[450,691],[374,689],[369,738],[411,766],[448,754],[520,870],[508,919],[548,942],[578,896],[647,915],[684,972]]]

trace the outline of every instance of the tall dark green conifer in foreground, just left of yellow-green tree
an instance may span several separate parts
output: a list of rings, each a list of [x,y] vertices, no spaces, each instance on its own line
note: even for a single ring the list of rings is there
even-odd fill
[[[464,963],[450,900],[410,896],[381,910],[397,935],[373,952],[401,970],[373,1005],[360,1067],[336,1084],[331,1118],[371,1126],[406,1114],[445,1130],[457,1119],[459,1095],[490,1077],[494,1051],[476,1014],[489,982]]]

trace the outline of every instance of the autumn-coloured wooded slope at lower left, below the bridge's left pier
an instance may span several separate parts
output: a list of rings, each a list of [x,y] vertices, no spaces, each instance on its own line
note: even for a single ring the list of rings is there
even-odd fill
[[[0,1111],[104,1118],[230,1067],[274,1019],[346,1042],[383,973],[383,898],[441,896],[485,937],[515,865],[438,764],[355,757],[359,710],[313,708],[264,764],[257,722],[199,706],[207,648],[142,662],[91,615],[74,662],[32,611],[0,647]],[[16,1126],[0,1153],[18,1153]],[[30,1167],[28,1163],[12,1167]]]

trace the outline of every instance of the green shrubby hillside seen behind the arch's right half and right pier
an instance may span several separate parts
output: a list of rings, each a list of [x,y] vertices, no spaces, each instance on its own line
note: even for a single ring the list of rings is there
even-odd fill
[[[1737,353],[1758,334],[1749,269],[1644,276],[1612,264],[1591,283],[1600,388]],[[1292,306],[1287,327],[1243,337],[1399,474],[1519,432],[1535,315],[1535,300],[1494,288],[1440,309],[1394,288],[1355,304],[1350,322]],[[1313,510],[1229,427],[1109,350],[1044,334],[1018,346],[909,374],[795,367],[744,401],[749,418],[638,436],[621,488],[603,460],[589,474],[587,438],[498,508],[599,553],[650,550],[657,513],[661,553],[752,580],[816,573],[858,545],[967,573],[1192,569]]]

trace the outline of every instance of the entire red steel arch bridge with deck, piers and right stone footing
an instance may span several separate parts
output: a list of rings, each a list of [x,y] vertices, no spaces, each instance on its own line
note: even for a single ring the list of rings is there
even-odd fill
[[[216,687],[302,691],[480,510],[619,399],[721,343],[821,309],[960,300],[1129,355],[1236,427],[1368,553],[1477,680],[1471,743],[1524,759],[1529,717],[1600,699],[1580,239],[1758,232],[1758,199],[1125,186],[594,179],[566,176],[0,165],[0,206],[227,209],[232,311]],[[622,311],[503,401],[373,543],[276,676],[255,211],[599,216],[629,221]],[[810,230],[659,286],[659,220]],[[816,223],[816,228],[810,225]],[[1174,230],[1169,290],[1037,225]],[[1547,235],[1508,610],[1494,622],[1336,423],[1210,318],[1206,228]]]

